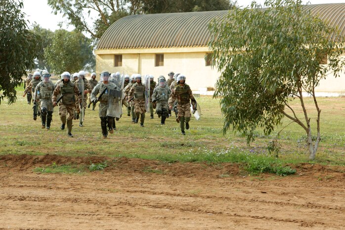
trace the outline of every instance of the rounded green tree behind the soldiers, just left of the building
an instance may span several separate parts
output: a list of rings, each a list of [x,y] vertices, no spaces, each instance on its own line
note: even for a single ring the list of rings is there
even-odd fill
[[[58,74],[79,72],[86,65],[95,64],[91,41],[76,31],[56,30],[44,56],[51,70]]]

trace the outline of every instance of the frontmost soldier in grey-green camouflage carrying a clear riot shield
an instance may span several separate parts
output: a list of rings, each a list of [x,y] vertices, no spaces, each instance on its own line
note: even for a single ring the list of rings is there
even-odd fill
[[[115,94],[116,85],[109,81],[110,73],[108,71],[102,71],[99,83],[93,88],[91,92],[91,101],[96,103],[99,101],[99,118],[101,119],[101,129],[103,138],[107,138],[109,133],[113,134],[113,121],[114,117],[120,113],[119,97]],[[97,98],[97,94],[100,96]]]

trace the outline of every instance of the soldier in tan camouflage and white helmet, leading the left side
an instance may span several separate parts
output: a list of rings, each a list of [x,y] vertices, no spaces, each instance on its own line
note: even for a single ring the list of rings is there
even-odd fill
[[[57,105],[57,95],[61,94],[59,97],[59,115],[61,119],[61,130],[65,129],[66,119],[67,119],[67,134],[69,137],[73,137],[72,135],[72,122],[74,117],[74,110],[77,107],[78,101],[78,94],[79,90],[78,87],[71,82],[71,74],[69,72],[63,72],[61,74],[62,82],[58,84],[53,92],[52,102],[53,106]],[[79,111],[80,112],[80,111]]]

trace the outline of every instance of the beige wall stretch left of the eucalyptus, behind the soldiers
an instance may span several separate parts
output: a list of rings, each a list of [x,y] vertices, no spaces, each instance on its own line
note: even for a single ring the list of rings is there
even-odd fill
[[[156,53],[124,53],[122,54],[123,66],[114,67],[114,54],[96,53],[97,74],[103,70],[108,70],[111,73],[125,72],[129,76],[133,73],[152,74],[157,80],[160,75],[167,78],[168,73],[173,71],[174,73],[184,74],[186,83],[192,90],[205,87],[214,88],[218,77],[216,70],[213,70],[211,66],[205,66],[204,56],[206,51],[164,53],[164,66],[155,66]]]

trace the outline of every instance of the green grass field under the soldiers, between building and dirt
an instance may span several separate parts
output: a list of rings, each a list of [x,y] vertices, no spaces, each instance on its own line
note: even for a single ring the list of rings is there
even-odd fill
[[[218,100],[213,99],[212,96],[197,98],[202,109],[202,117],[199,121],[192,118],[191,129],[186,131],[186,136],[180,135],[174,115],[167,119],[166,125],[161,126],[157,115],[154,119],[149,119],[149,114],[146,114],[145,127],[141,128],[139,124],[132,124],[127,111],[124,111],[123,117],[116,122],[115,133],[103,139],[96,107],[96,111],[86,109],[85,127],[79,127],[78,121],[74,121],[72,130],[74,138],[69,138],[66,130],[61,131],[59,128],[58,107],[54,110],[50,130],[41,129],[41,121],[39,117],[37,121],[33,120],[33,105],[26,103],[26,97],[22,97],[22,89],[17,91],[18,98],[13,105],[7,105],[6,101],[0,105],[2,115],[0,154],[57,154],[114,158],[125,156],[164,162],[243,163],[254,161],[254,164],[308,162],[306,135],[297,124],[289,125],[280,133],[279,159],[275,159],[268,152],[269,142],[290,123],[288,119],[283,121],[282,127],[278,127],[271,137],[265,138],[263,132],[258,130],[256,139],[250,146],[247,146],[246,138],[239,133],[234,134],[229,131],[223,135],[223,119]],[[312,163],[344,166],[345,98],[320,97],[318,101],[322,110],[322,140],[316,160]],[[309,111],[313,110],[311,120],[315,121],[316,113],[311,98],[306,99],[306,104]],[[292,102],[292,105],[302,112],[297,101]]]

